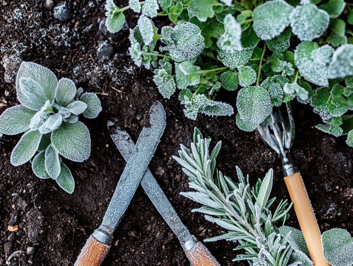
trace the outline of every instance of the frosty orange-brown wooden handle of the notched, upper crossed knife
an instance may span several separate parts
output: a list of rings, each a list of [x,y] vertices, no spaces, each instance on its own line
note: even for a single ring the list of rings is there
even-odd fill
[[[99,266],[107,256],[109,249],[109,245],[96,240],[91,235],[82,248],[74,266]]]

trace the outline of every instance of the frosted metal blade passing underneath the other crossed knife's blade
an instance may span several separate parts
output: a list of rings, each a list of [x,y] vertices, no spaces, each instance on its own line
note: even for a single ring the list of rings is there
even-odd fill
[[[132,139],[126,131],[120,130],[120,128],[111,128],[109,132],[111,132],[110,136],[119,152],[124,157],[125,161],[127,161],[135,146]],[[146,170],[141,185],[157,211],[162,215],[170,229],[172,229],[174,234],[178,237],[182,246],[184,246],[187,241],[193,240],[194,236],[190,234],[189,230],[187,230],[183,222],[180,220],[177,212],[175,212],[172,204],[170,204],[149,169]]]

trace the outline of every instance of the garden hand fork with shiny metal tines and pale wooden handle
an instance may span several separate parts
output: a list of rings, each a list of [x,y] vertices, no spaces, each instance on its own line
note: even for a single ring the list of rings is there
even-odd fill
[[[273,120],[272,125],[267,121],[260,124],[256,128],[257,134],[280,155],[285,183],[314,266],[329,266],[323,256],[321,233],[303,179],[289,155],[295,135],[291,104],[286,102],[273,107]]]

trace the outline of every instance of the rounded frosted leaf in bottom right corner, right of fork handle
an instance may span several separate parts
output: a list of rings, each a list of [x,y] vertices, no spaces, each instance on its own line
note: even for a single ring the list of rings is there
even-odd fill
[[[353,238],[347,230],[334,228],[322,234],[324,257],[332,266],[353,264]]]

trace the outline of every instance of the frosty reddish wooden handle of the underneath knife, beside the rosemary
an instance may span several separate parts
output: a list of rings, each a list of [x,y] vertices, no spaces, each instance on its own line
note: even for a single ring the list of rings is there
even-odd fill
[[[185,252],[192,266],[221,266],[201,242]]]

